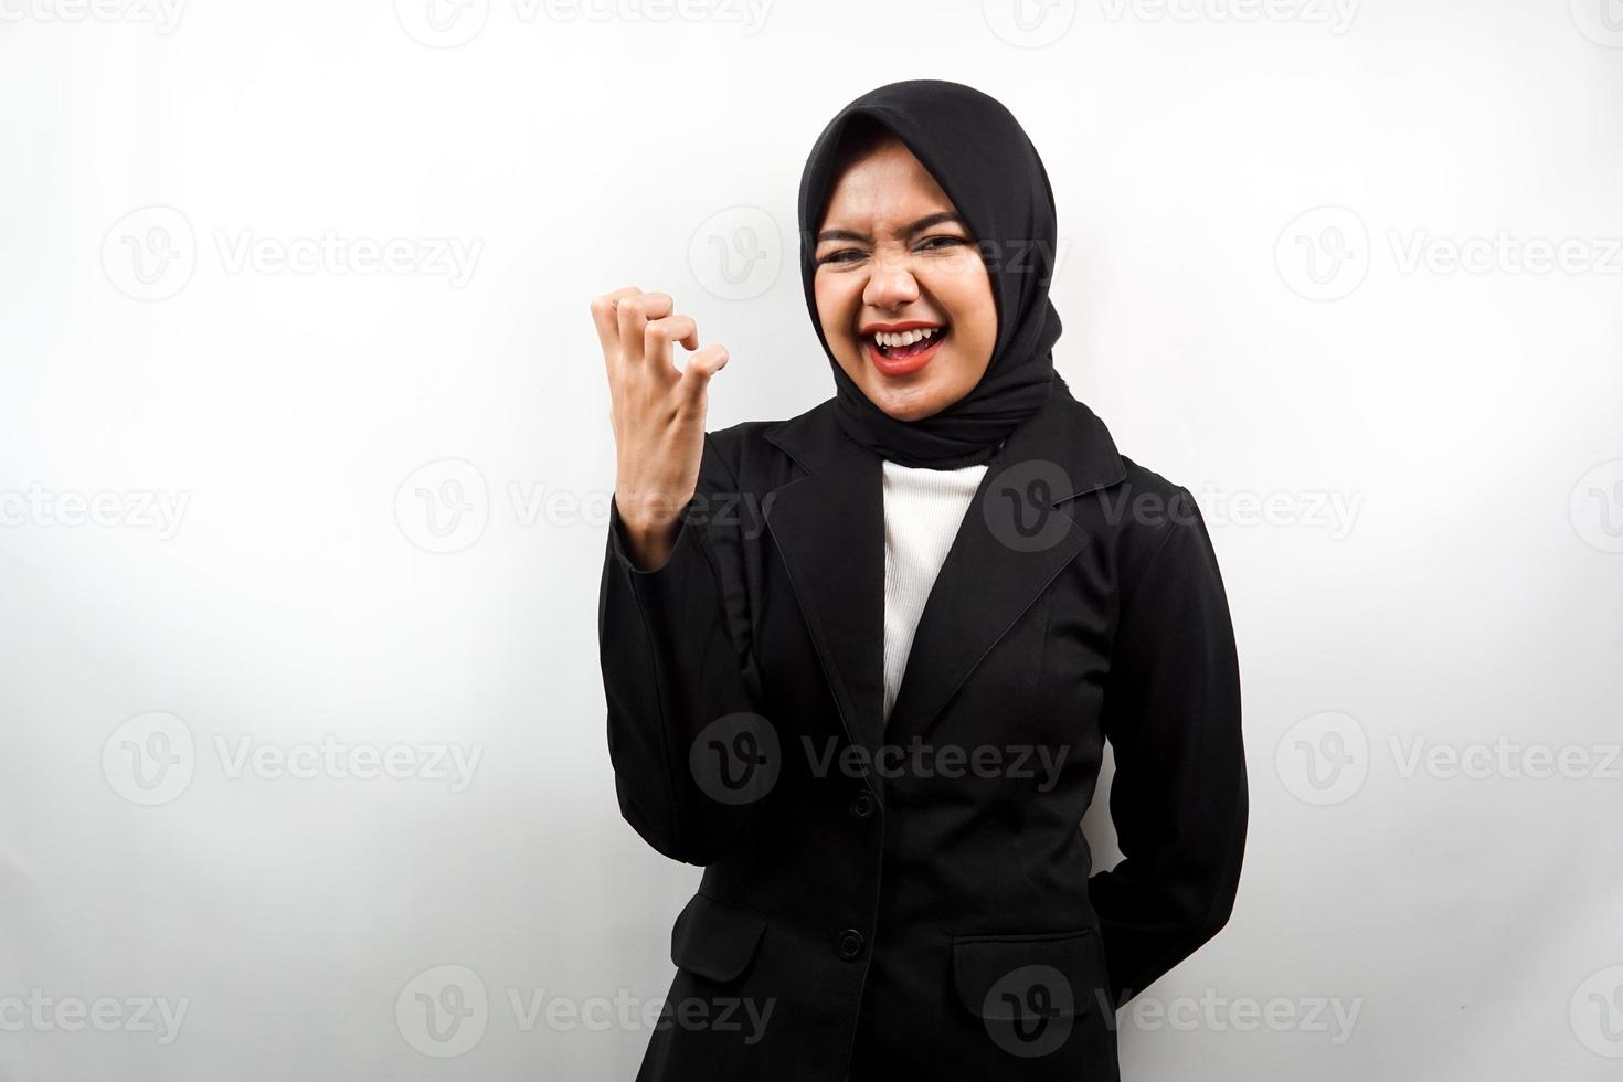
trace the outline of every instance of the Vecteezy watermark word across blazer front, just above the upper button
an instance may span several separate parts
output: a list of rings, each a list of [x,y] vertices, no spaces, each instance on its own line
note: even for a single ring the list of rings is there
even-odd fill
[[[930,745],[914,736],[907,745],[880,745],[870,751],[863,745],[847,743],[841,748],[839,736],[826,736],[820,751],[810,736],[800,738],[813,777],[839,772],[849,779],[878,774],[885,779],[1014,779],[1035,780],[1035,790],[1047,793],[1060,782],[1070,745]]]

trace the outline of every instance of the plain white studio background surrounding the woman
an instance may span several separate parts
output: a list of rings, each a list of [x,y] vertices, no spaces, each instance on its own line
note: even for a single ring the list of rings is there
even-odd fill
[[[1617,0],[175,3],[0,0],[0,1079],[635,1074],[700,869],[613,796],[588,302],[712,428],[828,397],[800,167],[922,76],[1233,608],[1240,899],[1125,1076],[1617,1077]]]

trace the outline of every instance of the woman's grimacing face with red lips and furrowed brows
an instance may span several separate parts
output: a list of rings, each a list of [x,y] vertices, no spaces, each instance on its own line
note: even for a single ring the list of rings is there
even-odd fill
[[[992,277],[953,201],[901,140],[846,165],[815,255],[823,336],[870,402],[919,420],[974,389],[998,336]]]

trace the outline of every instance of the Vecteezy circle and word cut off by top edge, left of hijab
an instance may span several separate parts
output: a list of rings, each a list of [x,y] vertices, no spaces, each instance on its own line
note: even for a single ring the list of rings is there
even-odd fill
[[[519,24],[570,23],[716,23],[760,34],[771,0],[506,0],[503,18]],[[490,21],[490,0],[394,0],[406,34],[430,49],[456,49],[479,37]]]

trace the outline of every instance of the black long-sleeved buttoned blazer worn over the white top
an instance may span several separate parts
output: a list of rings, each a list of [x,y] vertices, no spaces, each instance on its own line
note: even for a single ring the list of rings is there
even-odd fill
[[[1000,448],[883,719],[881,464],[833,399],[706,435],[669,561],[610,508],[625,819],[704,866],[638,1079],[1091,1079],[1115,1009],[1229,920],[1233,631],[1186,488],[1063,388]],[[1105,740],[1125,860],[1079,821]]]

